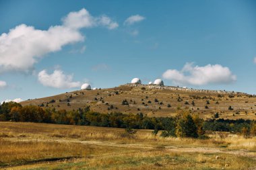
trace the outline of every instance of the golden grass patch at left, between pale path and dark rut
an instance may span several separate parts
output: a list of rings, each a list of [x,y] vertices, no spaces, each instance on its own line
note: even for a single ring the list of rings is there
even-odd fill
[[[117,151],[117,148],[111,146],[94,146],[74,142],[13,142],[0,138],[0,167],[49,161],[51,159],[90,157]]]

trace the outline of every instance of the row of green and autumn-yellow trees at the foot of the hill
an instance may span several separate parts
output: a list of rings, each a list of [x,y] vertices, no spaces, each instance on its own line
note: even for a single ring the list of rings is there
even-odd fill
[[[188,110],[177,109],[174,117],[148,117],[140,114],[123,114],[113,112],[101,114],[93,112],[90,107],[78,110],[56,110],[41,108],[37,105],[25,105],[13,101],[0,105],[0,121],[38,122],[52,124],[71,124],[86,126],[102,126],[113,128],[150,129],[157,134],[162,130],[162,136],[204,138],[205,130],[223,132],[241,132],[246,136],[256,136],[254,120],[203,120],[198,114]]]

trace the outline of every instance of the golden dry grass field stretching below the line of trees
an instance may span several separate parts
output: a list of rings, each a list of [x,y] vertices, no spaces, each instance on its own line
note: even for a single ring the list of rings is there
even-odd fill
[[[207,140],[152,130],[0,122],[2,169],[256,169],[256,138],[208,132]]]

